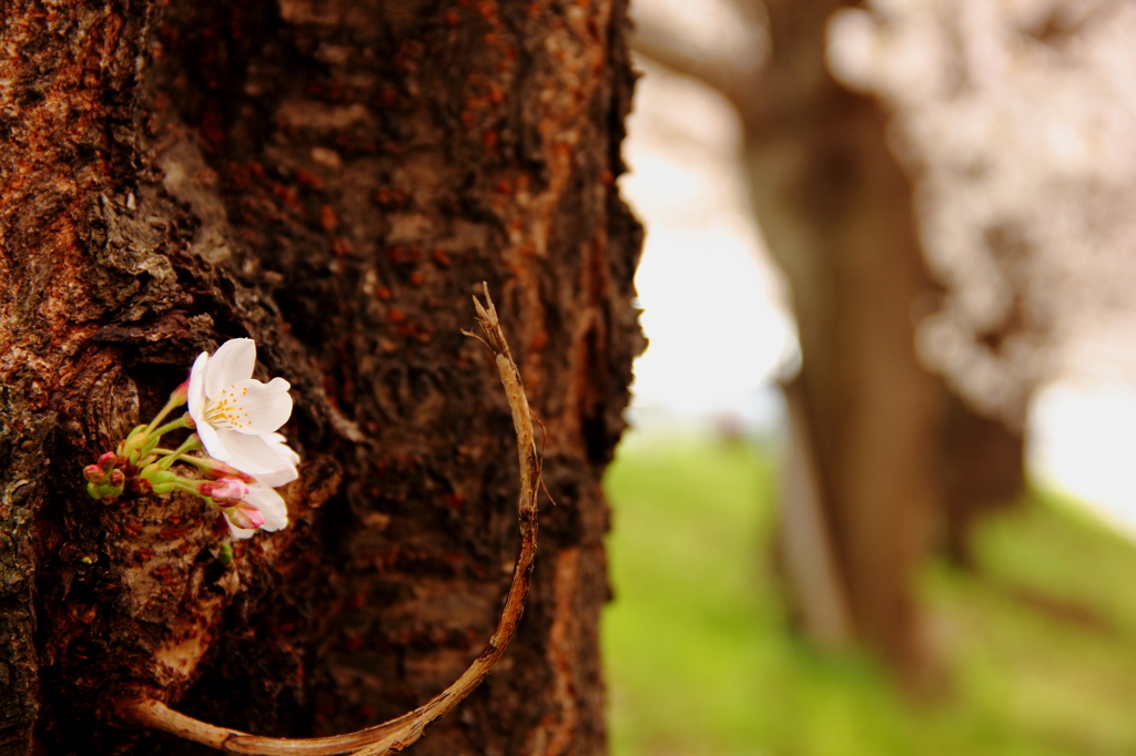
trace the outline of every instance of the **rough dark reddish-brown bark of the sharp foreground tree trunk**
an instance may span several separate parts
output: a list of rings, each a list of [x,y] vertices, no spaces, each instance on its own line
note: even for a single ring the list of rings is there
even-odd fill
[[[508,408],[459,334],[482,280],[558,506],[513,645],[414,753],[604,753],[600,476],[642,346],[625,28],[620,0],[7,3],[0,754],[211,753],[114,726],[131,691],[302,737],[451,682],[517,538]],[[304,462],[292,524],[225,569],[197,499],[103,505],[80,470],[241,336]]]

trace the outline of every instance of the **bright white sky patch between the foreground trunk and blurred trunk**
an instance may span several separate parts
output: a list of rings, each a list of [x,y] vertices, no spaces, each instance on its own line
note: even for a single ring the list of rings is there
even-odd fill
[[[796,337],[746,207],[736,117],[705,87],[646,68],[629,132],[620,187],[646,226],[635,285],[651,342],[634,404],[771,422],[769,381]]]

